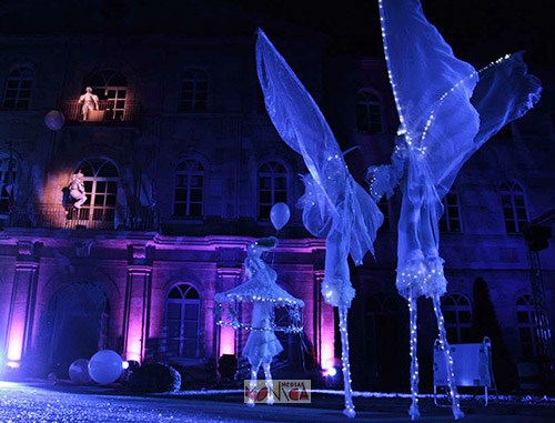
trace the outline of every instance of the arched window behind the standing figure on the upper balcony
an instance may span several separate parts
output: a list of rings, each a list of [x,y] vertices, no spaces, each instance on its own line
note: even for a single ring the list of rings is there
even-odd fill
[[[113,70],[99,71],[83,80],[83,91],[85,87],[91,87],[100,102],[107,103],[105,110],[110,113],[108,119],[125,120],[128,80],[123,74]]]

